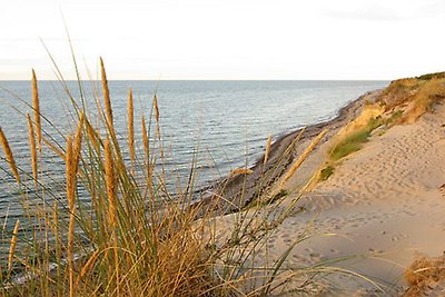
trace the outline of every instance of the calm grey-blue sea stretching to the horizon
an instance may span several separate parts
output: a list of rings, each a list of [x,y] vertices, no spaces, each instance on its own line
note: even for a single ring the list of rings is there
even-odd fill
[[[269,135],[274,138],[290,130],[325,121],[339,108],[368,90],[379,89],[387,81],[111,81],[110,93],[115,125],[125,141],[127,93],[135,96],[135,119],[150,112],[157,89],[165,147],[169,151],[167,169],[186,176],[194,150],[198,150],[199,184],[216,179],[246,164],[251,165],[264,151]],[[80,93],[75,81],[68,82],[72,96]],[[31,109],[18,98],[31,102],[29,81],[0,81],[0,125],[7,135],[18,165],[30,172],[28,128],[24,113]],[[98,82],[87,81],[87,105],[92,112]],[[7,90],[9,91],[7,91]],[[39,82],[41,112],[60,127],[63,135],[72,127],[68,97],[57,81]],[[136,132],[140,136],[140,120]],[[49,123],[43,129],[53,131]],[[140,137],[138,138],[140,139]],[[137,143],[141,147],[141,142]],[[7,212],[20,216],[17,189],[9,181],[9,168],[1,152],[0,221]],[[42,164],[43,178],[52,187],[63,178],[63,164],[48,158]],[[24,176],[24,175],[23,175]],[[85,197],[88,199],[88,197]]]

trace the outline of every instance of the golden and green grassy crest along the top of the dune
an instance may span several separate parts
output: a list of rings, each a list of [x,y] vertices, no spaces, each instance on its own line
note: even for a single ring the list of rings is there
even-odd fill
[[[380,92],[375,102],[367,101],[362,115],[339,132],[337,136],[339,140],[330,150],[327,164],[318,174],[318,180],[328,179],[334,174],[336,162],[360,150],[378,127],[412,123],[425,112],[433,110],[434,105],[444,98],[445,72],[393,81]],[[367,110],[379,108],[383,108],[380,112],[366,115]],[[379,135],[383,133],[384,130]]]

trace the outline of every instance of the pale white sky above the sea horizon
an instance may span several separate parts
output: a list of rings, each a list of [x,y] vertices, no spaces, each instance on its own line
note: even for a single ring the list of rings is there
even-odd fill
[[[0,0],[0,80],[373,79],[445,71],[444,0]],[[44,46],[43,46],[44,44]]]

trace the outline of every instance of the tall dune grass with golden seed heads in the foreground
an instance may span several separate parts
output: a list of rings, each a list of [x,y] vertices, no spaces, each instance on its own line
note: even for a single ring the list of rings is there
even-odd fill
[[[100,66],[103,97],[98,97],[97,101],[99,107],[105,105],[105,112],[92,112],[85,105],[80,107],[67,91],[72,105],[73,130],[58,136],[63,143],[55,142],[57,137],[41,130],[41,120],[52,123],[40,115],[38,81],[32,71],[32,103],[29,106],[34,117],[33,120],[27,117],[32,172],[17,166],[0,128],[4,152],[0,167],[12,175],[23,201],[36,198],[41,201],[40,207],[23,209],[21,219],[24,222],[17,220],[12,231],[3,228],[2,235],[9,235],[9,239],[3,240],[6,244],[0,248],[9,250],[9,259],[0,264],[2,295],[267,296],[283,293],[290,277],[303,279],[299,289],[304,291],[313,283],[310,276],[328,271],[325,266],[323,269],[316,268],[313,269],[284,266],[290,250],[308,238],[306,230],[296,235],[295,245],[278,259],[255,265],[264,257],[261,251],[270,235],[293,214],[291,209],[280,207],[286,195],[274,205],[261,204],[249,211],[233,214],[228,225],[220,225],[211,207],[195,204],[200,197],[192,190],[194,164],[188,185],[169,190],[156,96],[148,127],[146,118],[141,117],[142,132],[138,137],[142,149],[138,155],[129,90],[127,158],[113,128],[102,59]],[[63,80],[61,82],[66,86]],[[98,115],[98,118],[90,115]],[[297,159],[297,166],[288,176],[324,135],[325,131],[307,154]],[[65,192],[47,187],[38,175],[41,165],[37,161],[36,142],[39,158],[51,155],[63,160]],[[269,150],[270,138],[264,162]],[[249,169],[238,169],[229,177],[249,174]],[[38,190],[32,190],[33,187]],[[81,192],[88,194],[87,202],[79,199]],[[227,198],[218,195],[211,200],[227,202]]]

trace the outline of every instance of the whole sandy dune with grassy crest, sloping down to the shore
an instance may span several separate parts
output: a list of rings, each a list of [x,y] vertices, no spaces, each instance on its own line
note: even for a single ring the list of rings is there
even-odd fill
[[[415,296],[443,291],[444,283],[437,275],[444,267],[436,267],[436,276],[423,273],[432,271],[431,267],[422,267],[418,260],[411,276],[406,269],[421,255],[439,257],[445,250],[444,98],[444,73],[402,79],[352,102],[335,120],[304,131],[291,156],[261,188],[268,198],[277,189],[284,191],[287,197],[279,208],[299,210],[268,238],[264,255],[269,260],[279,258],[309,229],[310,238],[291,249],[283,267],[290,270],[332,263],[359,275],[325,275],[312,285],[314,294]],[[315,150],[283,182],[293,161],[325,129],[327,133]],[[300,131],[276,141],[266,169],[259,160],[251,175],[238,178],[247,185],[247,192],[258,190],[254,185],[258,185],[260,170],[270,170],[297,135]],[[251,206],[249,199],[240,201],[236,195],[240,184],[231,181],[224,194],[233,195],[237,206]],[[255,206],[244,211],[255,212],[251,209]],[[234,216],[217,218],[222,226],[220,237],[230,230]],[[261,258],[254,261],[260,265]],[[425,263],[439,266],[443,260]],[[286,286],[291,291],[300,281]],[[409,290],[408,283],[413,285]]]

